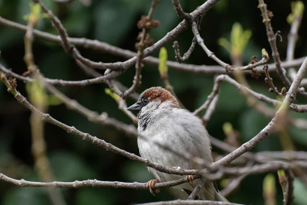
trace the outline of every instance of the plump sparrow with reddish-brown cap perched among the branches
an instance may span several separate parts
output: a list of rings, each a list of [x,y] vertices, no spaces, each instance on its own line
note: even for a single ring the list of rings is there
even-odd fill
[[[205,159],[209,164],[213,163],[209,134],[202,120],[190,111],[181,108],[176,97],[168,90],[162,87],[146,89],[140,94],[137,102],[127,110],[137,113],[139,135],[147,136],[151,140],[173,149],[187,151],[195,157]],[[195,163],[166,151],[161,146],[152,144],[140,136],[138,136],[137,142],[140,155],[143,158],[172,169],[199,169]],[[166,174],[150,167],[147,169],[156,178],[149,180],[146,184],[152,194],[152,187],[155,183],[182,178],[180,175]],[[194,189],[192,186],[194,178],[188,175],[186,180],[189,183],[183,183],[173,188],[190,194]],[[159,191],[156,190],[157,193]],[[228,201],[218,191],[216,182],[211,180],[206,180],[196,198]]]

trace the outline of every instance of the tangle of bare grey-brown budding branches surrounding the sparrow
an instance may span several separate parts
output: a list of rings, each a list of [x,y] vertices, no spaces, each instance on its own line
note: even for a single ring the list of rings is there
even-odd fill
[[[26,75],[19,75],[13,72],[10,69],[6,69],[4,66],[0,65],[0,79],[3,81],[5,86],[7,87],[8,92],[13,94],[16,100],[27,109],[29,109],[33,115],[35,114],[36,119],[39,122],[49,122],[68,133],[74,134],[76,136],[81,137],[83,140],[90,141],[92,144],[105,149],[106,151],[111,151],[116,154],[120,154],[122,156],[127,157],[130,160],[136,160],[138,162],[143,163],[145,166],[156,169],[160,172],[164,172],[167,174],[175,174],[175,175],[193,175],[194,178],[201,178],[199,184],[193,190],[193,192],[188,197],[188,200],[192,200],[198,194],[199,190],[202,186],[204,186],[205,180],[215,180],[221,179],[225,176],[227,177],[235,177],[230,183],[229,186],[224,189],[224,194],[229,194],[233,190],[235,190],[240,182],[248,175],[259,174],[259,173],[267,173],[267,172],[276,172],[278,170],[279,181],[281,188],[283,190],[284,196],[284,204],[291,204],[293,200],[293,180],[294,174],[293,170],[298,168],[307,168],[307,154],[305,152],[259,152],[259,153],[251,153],[250,151],[259,144],[260,141],[270,136],[270,134],[278,131],[278,127],[280,127],[281,120],[283,118],[289,119],[289,122],[300,129],[307,129],[307,122],[304,119],[296,119],[289,117],[287,112],[289,109],[296,112],[307,112],[307,105],[300,105],[296,102],[297,93],[301,96],[306,97],[307,93],[304,92],[304,89],[301,86],[305,85],[304,76],[307,70],[307,58],[302,57],[298,59],[294,59],[294,50],[296,43],[296,36],[298,32],[298,28],[300,26],[301,15],[302,12],[298,15],[297,13],[293,13],[293,22],[291,33],[289,35],[289,44],[288,44],[288,52],[287,52],[287,61],[281,62],[279,53],[276,46],[276,34],[274,33],[271,26],[271,19],[273,14],[267,10],[267,5],[263,0],[259,0],[259,9],[261,10],[263,23],[267,29],[267,36],[269,39],[270,47],[272,50],[272,57],[274,59],[274,64],[267,64],[269,61],[269,54],[265,49],[262,49],[261,59],[257,60],[255,57],[252,57],[251,62],[246,66],[238,66],[235,63],[234,65],[230,65],[225,63],[221,58],[217,57],[209,48],[206,46],[204,39],[201,37],[200,33],[200,25],[201,20],[206,14],[206,12],[214,6],[218,0],[208,0],[197,9],[195,9],[191,13],[186,13],[183,11],[180,2],[178,0],[173,0],[174,10],[183,20],[179,23],[176,28],[169,31],[163,38],[158,40],[157,43],[153,44],[153,40],[149,36],[149,30],[153,27],[157,27],[159,22],[156,20],[152,20],[153,10],[158,5],[158,0],[152,0],[151,7],[147,16],[143,16],[141,20],[138,22],[138,28],[142,31],[140,32],[137,39],[139,39],[139,43],[137,43],[136,47],[138,52],[132,52],[128,50],[124,50],[112,45],[108,45],[103,42],[99,42],[98,40],[90,40],[85,38],[71,38],[69,37],[66,29],[62,25],[61,21],[58,17],[45,5],[41,3],[40,0],[34,0],[43,11],[45,11],[46,16],[48,17],[53,27],[58,32],[57,35],[52,35],[46,32],[42,32],[34,29],[38,19],[43,16],[28,16],[29,21],[28,25],[20,25],[10,20],[4,19],[0,17],[0,24],[12,27],[14,29],[18,29],[20,31],[26,32],[25,35],[25,61],[28,67],[28,71]],[[62,2],[72,2],[72,1],[62,1]],[[48,15],[47,15],[48,14]],[[205,18],[205,17],[204,17]],[[30,20],[31,19],[31,20]],[[184,30],[191,27],[193,32],[192,43],[188,51],[181,57],[179,50],[179,43],[177,41],[173,42],[173,48],[176,55],[176,61],[167,60],[167,51],[163,47],[169,42],[172,42],[180,33]],[[43,77],[42,74],[39,73],[37,66],[34,64],[34,58],[32,54],[32,43],[33,36],[40,37],[42,39],[48,40],[49,42],[59,43],[62,45],[63,50],[70,55],[76,61],[77,65],[84,70],[87,74],[93,76],[94,78],[84,79],[84,80],[62,80],[62,79],[50,79]],[[190,65],[190,64],[182,64],[184,60],[187,60],[195,46],[198,43],[206,55],[213,59],[217,66],[206,66],[206,65]],[[127,58],[125,61],[118,61],[114,63],[103,63],[96,62],[91,59],[83,57],[77,47],[93,49],[96,51],[111,53],[113,55],[118,55]],[[152,57],[151,55],[160,50],[159,58]],[[167,90],[169,90],[172,95],[174,95],[177,99],[176,93],[174,92],[173,87],[170,84],[168,79],[168,68],[174,70],[181,70],[190,73],[203,73],[203,74],[218,74],[215,76],[214,85],[212,92],[208,95],[205,103],[198,109],[196,109],[193,114],[198,115],[202,111],[206,110],[205,115],[203,116],[203,122],[206,122],[210,119],[212,113],[215,110],[218,97],[220,95],[220,88],[222,82],[227,82],[231,86],[237,88],[240,92],[242,92],[247,99],[247,104],[255,107],[255,109],[267,117],[271,118],[269,124],[263,128],[258,134],[256,134],[252,139],[245,142],[243,145],[238,147],[232,147],[231,145],[222,142],[216,138],[211,137],[211,143],[213,146],[226,151],[228,155],[222,156],[219,160],[215,161],[212,165],[208,165],[207,162],[199,157],[195,157],[192,153],[189,153],[185,150],[177,150],[173,147],[168,147],[162,144],[159,141],[152,140],[148,136],[144,136],[138,133],[137,129],[134,126],[124,124],[123,122],[108,117],[107,113],[99,114],[95,111],[92,111],[81,104],[79,104],[76,100],[70,99],[65,94],[61,93],[54,86],[87,86],[92,84],[100,84],[104,83],[108,85],[109,89],[106,89],[105,92],[111,96],[116,103],[118,104],[118,108],[124,112],[134,124],[138,123],[138,118],[127,111],[126,106],[126,97],[131,97],[135,100],[138,99],[139,94],[135,93],[138,87],[141,84],[141,71],[143,68],[143,63],[148,63],[152,65],[159,65],[160,76],[163,79],[164,85]],[[133,84],[130,88],[126,88],[118,81],[115,80],[116,77],[123,75],[125,71],[127,71],[131,67],[135,67],[135,76],[133,80]],[[300,66],[298,72],[296,72],[292,67]],[[262,69],[264,67],[264,69]],[[270,68],[270,69],[269,69]],[[288,79],[286,75],[286,70],[284,68],[290,68]],[[100,74],[96,72],[94,69],[103,69],[104,74]],[[287,91],[286,88],[282,88],[279,92],[278,89],[273,84],[273,79],[270,77],[271,71],[277,71],[280,79],[283,84],[289,88]],[[257,78],[260,75],[260,72],[265,73],[266,81],[270,86],[270,91],[273,91],[279,99],[273,99],[267,97],[264,94],[257,93],[248,87],[246,84],[246,79],[242,78],[243,74],[251,74],[253,77]],[[228,74],[233,74],[236,78],[233,79]],[[10,77],[7,79],[7,77]],[[240,78],[241,77],[241,78]],[[244,76],[243,76],[244,77]],[[28,101],[26,97],[21,95],[16,90],[16,79],[24,81],[25,83],[33,83],[41,85],[40,91],[48,90],[54,96],[56,96],[57,100],[61,101],[67,108],[72,109],[80,114],[84,115],[89,119],[89,121],[94,122],[99,125],[110,126],[118,131],[124,132],[129,135],[133,135],[135,137],[143,138],[144,140],[149,141],[151,144],[155,144],[161,148],[163,148],[167,152],[172,152],[177,156],[181,157],[183,160],[192,161],[200,166],[198,170],[180,170],[180,169],[171,169],[160,165],[158,163],[152,162],[148,159],[139,157],[133,153],[122,150],[104,140],[92,136],[89,133],[84,133],[76,129],[75,127],[68,126],[63,124],[62,122],[56,120],[52,116],[47,113],[47,109],[41,109],[42,107],[35,103],[35,101]],[[243,80],[242,80],[243,79]],[[275,80],[274,80],[275,82]],[[287,91],[287,92],[286,92]],[[179,100],[178,100],[179,101]],[[262,101],[263,103],[273,105],[277,107],[277,111],[268,109],[263,109],[264,107],[258,106],[258,101]],[[262,103],[260,102],[260,103]],[[184,108],[184,105],[179,101],[180,106]],[[45,108],[45,107],[43,107]],[[267,112],[268,111],[268,112]],[[38,122],[36,121],[36,122]],[[32,127],[35,127],[34,122],[32,123]],[[38,127],[36,127],[38,128]],[[41,128],[41,127],[40,127]],[[36,133],[37,134],[37,133]],[[42,134],[42,133],[40,133]],[[44,148],[44,146],[42,146]],[[44,151],[43,149],[43,152]],[[44,156],[46,157],[46,156]],[[36,161],[37,161],[36,156]],[[226,167],[229,163],[234,162],[235,160],[241,160],[244,163],[244,167]],[[251,161],[252,164],[248,163]],[[37,163],[37,162],[36,162]],[[283,172],[281,172],[282,170]],[[10,178],[9,176],[0,173],[0,180],[8,183],[12,183],[13,185],[20,187],[64,187],[64,188],[81,188],[81,187],[112,187],[112,188],[128,188],[128,189],[147,189],[146,183],[139,182],[119,182],[119,181],[100,181],[100,180],[84,180],[84,181],[74,181],[74,182],[48,182],[48,180],[43,180],[44,182],[34,182],[34,181],[26,181],[24,179],[17,180]],[[49,178],[50,181],[50,178]],[[181,185],[182,183],[186,183],[185,177],[176,181],[167,181],[167,182],[159,182],[152,186],[154,189],[159,188],[168,188],[174,187],[177,185]],[[176,200],[169,202],[156,202],[156,203],[148,203],[148,204],[234,204],[229,202],[214,202],[214,201],[187,201],[187,200]]]

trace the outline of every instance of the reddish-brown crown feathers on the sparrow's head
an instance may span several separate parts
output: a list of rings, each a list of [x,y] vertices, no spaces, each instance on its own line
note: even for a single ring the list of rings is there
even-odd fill
[[[159,99],[161,103],[163,103],[164,101],[170,101],[173,104],[174,108],[180,108],[176,97],[174,97],[168,90],[162,87],[148,88],[141,94],[141,97],[147,97],[150,101]]]

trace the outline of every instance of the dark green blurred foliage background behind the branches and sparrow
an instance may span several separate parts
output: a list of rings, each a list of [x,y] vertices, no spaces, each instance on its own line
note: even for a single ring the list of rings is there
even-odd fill
[[[0,15],[25,25],[26,21],[23,16],[29,13],[29,2],[28,0],[0,0]],[[89,6],[83,5],[78,0],[65,5],[55,4],[51,0],[43,2],[61,19],[71,37],[98,39],[120,48],[136,51],[135,43],[139,32],[136,24],[141,15],[147,14],[151,1],[92,0]],[[181,0],[180,2],[186,12],[191,12],[204,3],[204,1],[200,0]],[[272,26],[274,31],[279,30],[282,36],[283,40],[280,42],[278,38],[277,46],[281,59],[285,59],[287,35],[290,30],[290,25],[287,23],[286,18],[291,13],[290,1],[267,0],[265,2],[268,4],[268,9],[274,13]],[[216,56],[227,63],[231,63],[229,53],[223,47],[218,46],[217,39],[226,37],[229,40],[233,24],[239,22],[245,30],[250,29],[252,31],[251,39],[243,53],[244,63],[247,64],[252,55],[261,58],[262,48],[266,48],[271,54],[265,26],[262,24],[260,10],[257,9],[257,5],[258,1],[244,0],[222,0],[217,3],[205,15],[201,25],[200,33],[206,46]],[[302,28],[299,30],[295,57],[307,54],[307,29],[304,27],[307,22],[306,17],[307,15],[304,15],[302,19]],[[161,1],[154,11],[153,18],[160,20],[160,27],[150,31],[150,36],[156,42],[181,21],[170,0]],[[48,19],[40,20],[37,29],[56,34]],[[23,38],[23,32],[0,25],[0,63],[7,68],[12,68],[14,72],[19,74],[27,70],[23,60]],[[182,55],[189,48],[192,38],[190,29],[182,32],[177,37],[176,40],[179,41]],[[172,43],[168,43],[165,47],[168,51],[169,59],[176,60]],[[90,49],[80,49],[80,51],[83,56],[95,61],[114,62],[125,60],[118,56],[98,53]],[[65,54],[62,47],[57,44],[35,38],[33,53],[35,63],[46,77],[65,80],[80,80],[89,77],[76,65],[74,59]],[[158,56],[158,53],[155,53],[154,56]],[[272,60],[270,62],[272,63]],[[185,63],[216,65],[198,45],[196,45],[191,57]],[[99,72],[103,73],[103,71]],[[135,68],[131,67],[118,80],[129,87],[134,74]],[[157,66],[145,64],[142,76],[142,85],[137,90],[139,93],[151,86],[163,86]],[[275,86],[280,90],[282,85],[275,72],[271,76],[274,79]],[[191,111],[201,106],[206,100],[212,90],[213,77],[213,75],[169,70],[170,83],[182,103]],[[257,80],[249,75],[247,76],[247,80],[253,90],[275,98],[274,94],[268,92],[269,86],[265,83],[264,78],[264,74]],[[101,84],[86,87],[65,87],[60,88],[60,90],[91,110],[107,112],[109,116],[122,120],[127,124],[132,124],[129,118],[118,109],[116,102],[105,94],[105,88],[106,86]],[[25,86],[21,81],[18,81],[17,90],[21,94],[27,95]],[[305,99],[299,96],[297,101],[301,104],[307,103]],[[127,99],[128,105],[132,103],[133,100]],[[50,107],[48,112],[51,116],[67,125],[74,126],[83,132],[89,132],[121,149],[139,154],[135,137],[128,136],[110,127],[95,125],[80,114],[68,110],[64,105]],[[307,119],[307,114],[293,114]],[[39,180],[37,173],[33,169],[29,116],[30,112],[19,105],[1,83],[0,172],[16,179]],[[264,128],[269,121],[270,119],[248,107],[244,96],[235,88],[224,83],[216,111],[208,122],[207,129],[212,136],[223,140],[225,135],[222,126],[225,122],[230,122],[234,129],[239,132],[239,140],[245,142]],[[52,171],[58,181],[98,179],[147,182],[153,178],[141,163],[100,149],[53,125],[46,124],[45,133],[48,157]],[[290,133],[296,149],[306,151],[307,132],[291,127]],[[282,150],[277,135],[271,135],[253,149],[255,152],[264,150]],[[216,148],[213,148],[213,151],[223,154]],[[266,174],[260,174],[247,177],[240,188],[234,194],[231,194],[228,199],[238,203],[264,204],[262,180],[265,176]],[[219,183],[219,186],[221,186],[221,183]],[[282,204],[282,193],[278,178],[276,178],[276,186],[277,204]],[[295,187],[295,204],[306,204],[306,187],[298,179],[295,181]],[[167,189],[161,189],[161,192],[156,194],[156,197],[152,196],[148,190],[114,188],[60,190],[68,204],[131,204],[174,198]],[[47,192],[43,188],[19,188],[4,182],[0,182],[0,203],[4,205],[51,204]]]

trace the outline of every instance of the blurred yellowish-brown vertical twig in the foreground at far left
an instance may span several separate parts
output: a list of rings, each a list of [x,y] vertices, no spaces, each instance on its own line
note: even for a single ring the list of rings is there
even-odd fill
[[[28,71],[27,74],[30,74],[34,79],[37,79],[37,85],[38,87],[41,85],[41,78],[40,74],[37,70],[37,66],[34,63],[34,57],[32,52],[32,46],[33,46],[33,28],[37,24],[37,20],[39,18],[33,17],[35,14],[30,13],[30,17],[28,20],[28,28],[27,32],[24,37],[24,43],[25,43],[25,56],[24,60],[27,65]],[[32,18],[31,18],[32,17]],[[13,86],[14,87],[14,86]],[[33,95],[37,95],[37,90],[31,90],[29,91],[29,97],[32,101],[32,104],[41,112],[46,112],[48,108],[48,101],[46,101],[43,96],[39,96],[40,100],[37,100],[37,98],[33,97]],[[32,96],[32,97],[31,97]],[[48,182],[52,181],[54,176],[52,174],[52,171],[50,169],[50,162],[47,157],[47,147],[46,147],[46,141],[44,138],[44,122],[40,119],[39,113],[36,111],[31,113],[30,116],[30,126],[31,126],[31,139],[32,139],[32,154],[33,154],[33,160],[34,160],[34,166],[36,168],[36,171],[38,173],[39,178],[42,181]],[[53,190],[48,188],[48,196],[50,197],[50,200],[53,204],[57,205],[64,205],[65,200],[63,198],[62,193],[60,190]]]

